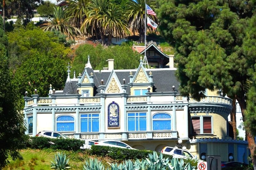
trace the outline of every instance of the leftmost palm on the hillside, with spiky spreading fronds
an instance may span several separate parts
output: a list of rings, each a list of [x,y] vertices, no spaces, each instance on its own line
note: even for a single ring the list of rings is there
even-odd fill
[[[42,27],[42,29],[44,31],[55,29],[63,34],[66,33],[68,37],[71,36],[74,39],[74,36],[81,34],[81,32],[78,28],[68,24],[70,18],[66,15],[62,7],[54,7],[53,18],[49,19],[50,24]]]

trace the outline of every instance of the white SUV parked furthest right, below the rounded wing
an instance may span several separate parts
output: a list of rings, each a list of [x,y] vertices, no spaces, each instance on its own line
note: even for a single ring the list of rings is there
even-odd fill
[[[188,152],[187,150],[183,150],[183,149],[179,149],[179,148],[165,146],[161,152],[164,154],[173,155],[173,158],[196,159],[196,157],[192,153]]]

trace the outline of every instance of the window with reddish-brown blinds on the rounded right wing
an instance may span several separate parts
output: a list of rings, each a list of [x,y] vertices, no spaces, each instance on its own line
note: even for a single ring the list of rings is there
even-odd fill
[[[192,134],[212,134],[212,117],[211,116],[194,116],[191,117]]]

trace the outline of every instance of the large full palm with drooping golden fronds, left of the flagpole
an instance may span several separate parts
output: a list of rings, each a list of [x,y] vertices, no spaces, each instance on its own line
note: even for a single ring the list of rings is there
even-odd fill
[[[119,6],[111,4],[108,0],[92,0],[87,12],[87,18],[81,25],[84,33],[99,32],[102,43],[108,36],[107,44],[111,44],[111,38],[122,38],[129,34],[128,23]]]

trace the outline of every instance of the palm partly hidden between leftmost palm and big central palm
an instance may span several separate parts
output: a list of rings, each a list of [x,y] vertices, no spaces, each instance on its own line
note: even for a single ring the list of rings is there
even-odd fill
[[[88,10],[88,4],[90,0],[70,0],[67,2],[67,14],[72,16],[70,20],[71,25],[80,27],[86,18],[86,13]]]

